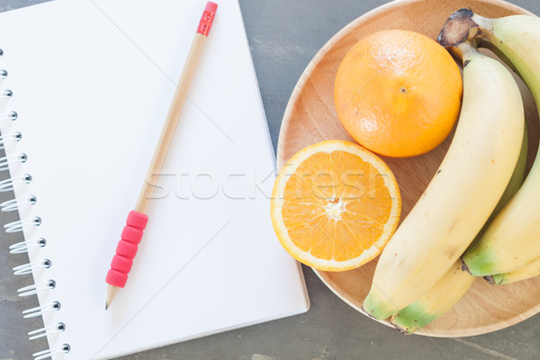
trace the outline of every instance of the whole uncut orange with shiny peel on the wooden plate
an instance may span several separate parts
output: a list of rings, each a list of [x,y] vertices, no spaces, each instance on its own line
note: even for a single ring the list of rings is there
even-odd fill
[[[454,59],[418,32],[378,31],[347,52],[334,100],[347,132],[388,157],[436,148],[459,115],[463,83]]]

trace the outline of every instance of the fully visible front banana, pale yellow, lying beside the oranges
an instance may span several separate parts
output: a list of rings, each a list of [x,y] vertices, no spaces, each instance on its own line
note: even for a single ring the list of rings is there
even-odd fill
[[[428,292],[464,253],[509,184],[523,139],[514,78],[467,41],[464,99],[437,174],[397,229],[375,269],[364,311],[383,320]]]

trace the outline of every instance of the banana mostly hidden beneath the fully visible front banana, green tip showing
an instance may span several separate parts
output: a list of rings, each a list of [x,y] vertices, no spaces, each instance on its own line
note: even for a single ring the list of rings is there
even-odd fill
[[[476,235],[474,241],[482,237],[482,233],[487,229],[490,221],[499,213],[499,211],[509,202],[509,200],[518,192],[523,184],[525,169],[527,165],[527,122],[525,122],[525,131],[523,142],[519,153],[518,164],[510,178],[506,190],[500,197],[495,210],[491,212],[490,219],[485,223],[482,230]],[[473,243],[474,243],[473,241]],[[540,272],[540,261],[538,262],[538,272]],[[425,327],[431,321],[438,319],[446,311],[452,309],[469,287],[473,284],[475,277],[462,271],[461,259],[458,259],[446,274],[428,290],[420,296],[419,300],[411,303],[408,307],[401,310],[397,315],[392,315],[390,322],[396,329],[403,334],[412,334],[416,330]]]

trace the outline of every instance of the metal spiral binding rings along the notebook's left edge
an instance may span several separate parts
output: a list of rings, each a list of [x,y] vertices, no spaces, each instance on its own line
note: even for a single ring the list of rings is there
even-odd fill
[[[0,49],[0,58],[4,56],[4,50]],[[8,76],[7,70],[0,68],[0,79],[4,79]],[[0,89],[0,99],[9,99],[14,96],[14,92],[10,89]],[[1,112],[0,121],[16,121],[18,119],[18,114],[15,111]],[[1,134],[0,135],[0,149],[4,148],[4,144],[10,141],[21,141],[23,139],[23,134],[21,132],[15,131],[13,133]],[[28,156],[24,153],[19,153],[15,155],[9,155],[0,157],[0,171],[8,170],[9,165],[12,163],[24,163],[28,159]],[[0,193],[10,192],[14,190],[14,186],[17,184],[30,184],[32,177],[30,174],[17,175],[9,177],[3,181],[0,181]],[[38,201],[37,197],[34,195],[23,196],[15,198],[6,202],[0,203],[0,211],[18,211],[23,206],[32,206]],[[15,233],[22,232],[23,229],[32,226],[40,226],[41,219],[40,217],[34,216],[28,219],[21,219],[9,222],[4,225],[4,231],[6,233]],[[34,247],[46,247],[47,240],[45,238],[31,238],[24,239],[21,242],[13,244],[9,247],[10,254],[23,254],[28,253],[30,248]],[[49,259],[42,259],[39,261],[29,262],[28,264],[23,264],[21,266],[15,266],[13,271],[14,275],[31,275],[34,269],[38,268],[49,268],[52,265],[52,262]],[[17,293],[20,297],[27,297],[32,295],[37,295],[41,292],[51,291],[56,287],[56,281],[50,279],[41,284],[31,284],[29,286],[24,286],[21,289],[17,290]],[[51,302],[49,304],[43,304],[35,308],[31,308],[23,311],[23,318],[36,318],[42,314],[49,311],[59,311],[61,304],[58,301]],[[28,333],[29,339],[33,340],[36,338],[44,338],[50,334],[63,332],[66,330],[66,324],[63,322],[58,322],[58,324],[36,329]],[[49,349],[40,351],[33,354],[34,360],[43,360],[48,359],[56,354],[68,353],[71,350],[69,344],[62,344],[59,347],[51,347]]]

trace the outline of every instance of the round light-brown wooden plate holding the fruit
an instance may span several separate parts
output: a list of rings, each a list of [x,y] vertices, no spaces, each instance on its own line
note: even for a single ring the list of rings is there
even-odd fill
[[[325,139],[353,141],[338,121],[334,108],[334,78],[339,63],[357,40],[374,31],[405,29],[422,32],[431,39],[446,18],[462,7],[487,17],[530,14],[498,0],[402,0],[385,4],[349,23],[320,49],[306,67],[284,114],[277,148],[278,169],[298,150]],[[529,125],[529,166],[538,146],[539,125],[536,105],[519,81]],[[383,159],[392,168],[401,188],[401,219],[409,213],[437,171],[452,135],[435,150],[419,157]],[[361,311],[374,275],[376,261],[358,269],[331,273],[315,270],[320,279],[338,296]],[[429,271],[429,269],[427,269]],[[420,329],[418,334],[434,337],[465,337],[509,327],[540,311],[540,276],[517,284],[492,286],[477,279],[454,309]],[[386,324],[388,324],[386,322]],[[389,325],[389,324],[388,324]]]

